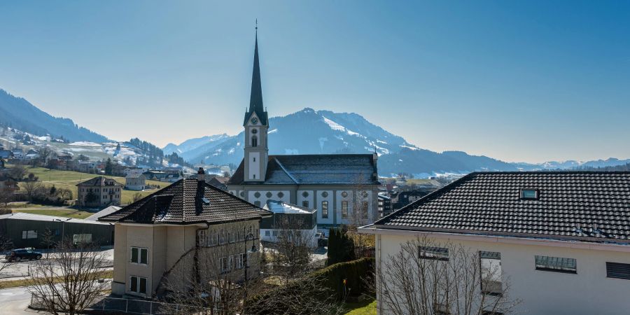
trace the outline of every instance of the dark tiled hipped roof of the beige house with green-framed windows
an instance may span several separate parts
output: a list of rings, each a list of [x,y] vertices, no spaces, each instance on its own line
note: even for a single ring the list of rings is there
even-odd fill
[[[205,204],[202,198],[209,200]],[[122,223],[192,224],[253,220],[271,213],[197,179],[171,186],[99,219]]]

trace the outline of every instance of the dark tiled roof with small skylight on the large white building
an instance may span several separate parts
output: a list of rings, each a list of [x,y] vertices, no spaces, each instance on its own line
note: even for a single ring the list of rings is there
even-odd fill
[[[527,188],[539,190],[538,200],[520,198]],[[630,242],[630,172],[472,173],[374,225]]]

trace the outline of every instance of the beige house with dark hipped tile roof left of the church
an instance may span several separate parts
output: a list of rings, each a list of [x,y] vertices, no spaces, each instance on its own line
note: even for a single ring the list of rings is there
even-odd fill
[[[197,177],[99,218],[116,223],[113,294],[155,297],[187,281],[258,276],[259,223],[271,213],[209,185],[202,169]]]

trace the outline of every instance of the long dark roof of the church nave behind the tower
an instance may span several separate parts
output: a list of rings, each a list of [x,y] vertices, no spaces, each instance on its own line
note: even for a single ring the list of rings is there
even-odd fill
[[[376,185],[376,168],[371,154],[269,155],[264,184]],[[244,169],[241,161],[228,185],[250,183]]]

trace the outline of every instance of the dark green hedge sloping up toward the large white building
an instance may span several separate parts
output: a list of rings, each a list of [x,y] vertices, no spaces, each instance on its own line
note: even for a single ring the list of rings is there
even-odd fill
[[[374,258],[361,258],[349,262],[339,262],[330,265],[316,272],[312,272],[304,279],[293,281],[286,286],[274,288],[264,293],[260,293],[245,301],[246,314],[284,314],[283,309],[260,309],[257,307],[260,302],[270,297],[284,296],[286,292],[295,292],[300,290],[300,286],[304,281],[318,281],[325,292],[318,299],[330,299],[333,295],[338,301],[344,299],[344,279],[346,280],[346,293],[353,296],[361,295],[367,291],[364,279],[374,272]],[[268,305],[267,305],[268,307]],[[282,307],[278,305],[278,307]]]

